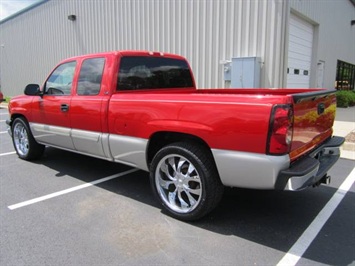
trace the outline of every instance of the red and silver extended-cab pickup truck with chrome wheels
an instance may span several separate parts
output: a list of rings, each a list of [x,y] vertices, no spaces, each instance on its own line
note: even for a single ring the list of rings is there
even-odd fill
[[[11,100],[7,124],[20,158],[52,146],[148,171],[163,208],[194,220],[224,186],[328,183],[344,142],[334,92],[196,89],[181,56],[117,51],[62,61]]]

